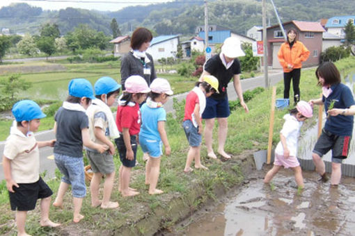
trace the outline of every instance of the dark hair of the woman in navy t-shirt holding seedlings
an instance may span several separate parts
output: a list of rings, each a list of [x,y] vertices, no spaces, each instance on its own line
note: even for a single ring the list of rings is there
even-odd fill
[[[319,85],[319,76],[324,78],[324,85],[334,85],[341,82],[340,72],[333,62],[323,62],[315,70],[315,76],[317,76]]]

